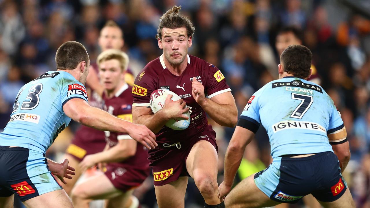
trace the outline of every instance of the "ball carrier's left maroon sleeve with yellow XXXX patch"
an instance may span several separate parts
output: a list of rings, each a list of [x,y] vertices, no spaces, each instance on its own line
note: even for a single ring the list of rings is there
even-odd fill
[[[132,85],[132,97],[134,97],[134,102],[132,106],[149,106],[150,94],[157,86],[155,84],[155,78],[149,73],[145,73],[145,68],[135,79],[134,85]]]

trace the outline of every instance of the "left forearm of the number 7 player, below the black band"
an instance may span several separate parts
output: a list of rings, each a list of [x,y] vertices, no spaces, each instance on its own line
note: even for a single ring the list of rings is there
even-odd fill
[[[225,155],[225,174],[224,174],[224,181],[225,184],[228,186],[232,186],[234,182],[234,178],[238,168],[240,166],[240,162],[242,161],[244,154],[244,149],[231,147],[229,146],[226,155]]]

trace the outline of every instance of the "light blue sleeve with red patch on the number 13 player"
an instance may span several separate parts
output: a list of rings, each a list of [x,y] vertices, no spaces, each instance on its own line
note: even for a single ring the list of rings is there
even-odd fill
[[[80,98],[87,101],[87,91],[82,83],[75,79],[73,80],[65,77],[62,77],[62,79],[63,81],[60,82],[62,106],[73,98]]]

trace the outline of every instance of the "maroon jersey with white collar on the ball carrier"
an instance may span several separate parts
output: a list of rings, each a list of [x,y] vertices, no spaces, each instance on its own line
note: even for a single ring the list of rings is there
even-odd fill
[[[204,86],[205,96],[212,98],[215,95],[231,91],[226,84],[225,77],[214,65],[188,55],[188,66],[181,76],[172,74],[165,66],[162,56],[149,62],[136,77],[132,87],[134,103],[132,106],[149,106],[149,97],[152,91],[166,89],[178,94],[186,105],[191,107],[191,123],[182,131],[163,127],[157,134],[157,141],[168,141],[170,138],[188,138],[196,135],[208,125],[207,117],[192,96],[191,83],[193,77]]]

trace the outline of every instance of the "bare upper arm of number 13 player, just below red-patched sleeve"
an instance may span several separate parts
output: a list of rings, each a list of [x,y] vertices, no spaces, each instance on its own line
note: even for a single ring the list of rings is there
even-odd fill
[[[87,107],[91,107],[86,100],[80,97],[74,97],[68,100],[63,105],[64,114],[70,117],[74,121],[79,121],[81,115],[84,114],[84,110]]]

